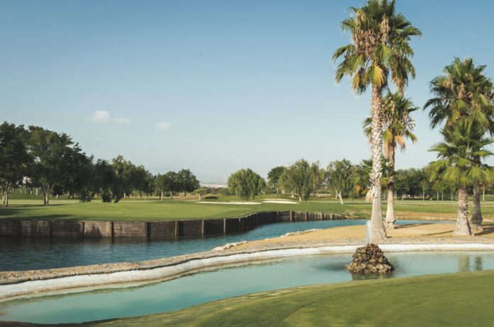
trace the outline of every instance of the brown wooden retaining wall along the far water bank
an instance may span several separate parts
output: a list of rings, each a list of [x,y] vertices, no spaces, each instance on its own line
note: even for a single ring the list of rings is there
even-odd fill
[[[256,212],[246,217],[190,219],[168,222],[100,222],[82,220],[0,219],[0,236],[70,238],[159,238],[203,236],[249,231],[275,222],[307,222],[346,219],[339,214],[321,212]]]

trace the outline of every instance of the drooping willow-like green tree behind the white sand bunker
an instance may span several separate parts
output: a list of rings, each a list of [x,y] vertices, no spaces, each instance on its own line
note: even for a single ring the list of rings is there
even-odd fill
[[[309,163],[300,159],[286,170],[286,183],[290,185],[292,192],[298,195],[299,201],[307,201],[314,190],[314,175]]]

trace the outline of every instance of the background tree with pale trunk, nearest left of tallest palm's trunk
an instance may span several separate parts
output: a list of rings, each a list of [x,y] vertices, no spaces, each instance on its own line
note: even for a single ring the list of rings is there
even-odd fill
[[[342,195],[346,195],[351,188],[352,176],[353,166],[346,159],[331,161],[326,169],[326,183],[329,188],[334,189],[341,205],[344,204]]]

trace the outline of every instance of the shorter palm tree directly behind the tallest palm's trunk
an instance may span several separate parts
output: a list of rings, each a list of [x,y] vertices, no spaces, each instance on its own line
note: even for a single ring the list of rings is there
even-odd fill
[[[391,93],[388,91],[383,100],[383,140],[384,156],[388,160],[388,208],[386,210],[385,228],[395,228],[395,210],[393,200],[395,195],[395,153],[396,148],[405,150],[405,139],[412,142],[417,141],[417,137],[412,131],[415,128],[415,120],[410,117],[410,113],[419,108],[416,107],[409,98],[402,96],[400,91]],[[364,121],[364,131],[370,137],[371,118]]]

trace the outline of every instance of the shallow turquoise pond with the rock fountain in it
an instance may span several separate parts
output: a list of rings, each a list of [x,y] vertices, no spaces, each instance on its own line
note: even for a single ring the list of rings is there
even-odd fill
[[[494,269],[494,252],[386,253],[395,272],[384,277]],[[297,256],[203,270],[174,280],[79,293],[45,294],[0,302],[0,319],[78,323],[182,309],[273,289],[362,279],[346,265],[351,255]]]

